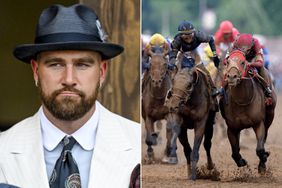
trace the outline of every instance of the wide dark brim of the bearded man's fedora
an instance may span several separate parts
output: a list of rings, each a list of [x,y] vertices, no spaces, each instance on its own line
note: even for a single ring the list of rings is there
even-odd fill
[[[44,51],[56,50],[90,50],[99,52],[103,60],[111,59],[121,54],[124,48],[118,44],[102,43],[102,42],[57,42],[44,44],[23,44],[16,46],[14,56],[25,62],[30,63],[32,59],[36,59],[36,55]]]

